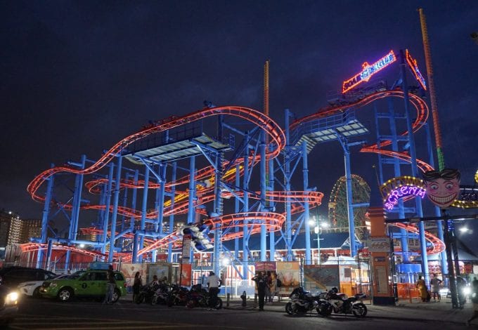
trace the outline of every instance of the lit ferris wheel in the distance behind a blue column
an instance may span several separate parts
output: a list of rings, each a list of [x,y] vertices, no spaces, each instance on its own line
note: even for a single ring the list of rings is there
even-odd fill
[[[352,178],[352,204],[366,204],[370,202],[370,186],[361,176],[351,175]],[[365,219],[368,206],[354,207],[354,225],[356,235],[362,239],[366,232]],[[330,227],[340,232],[349,231],[349,212],[347,209],[347,185],[345,176],[337,180],[328,203],[328,218]]]

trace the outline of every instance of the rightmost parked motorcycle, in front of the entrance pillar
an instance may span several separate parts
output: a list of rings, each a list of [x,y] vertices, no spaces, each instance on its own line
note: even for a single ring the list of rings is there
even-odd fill
[[[353,314],[355,317],[365,317],[367,315],[367,306],[363,304],[362,299],[366,295],[357,293],[353,297],[348,297],[345,293],[339,293],[337,288],[332,288],[328,292],[319,295],[318,306],[316,308],[318,315],[327,317],[332,312],[335,314]]]

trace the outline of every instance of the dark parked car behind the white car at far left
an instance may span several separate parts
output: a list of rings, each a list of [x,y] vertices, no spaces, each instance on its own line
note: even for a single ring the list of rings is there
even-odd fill
[[[19,266],[4,267],[0,269],[0,282],[5,286],[16,289],[18,284],[27,281],[44,281],[57,275],[48,270],[39,268],[27,268]]]

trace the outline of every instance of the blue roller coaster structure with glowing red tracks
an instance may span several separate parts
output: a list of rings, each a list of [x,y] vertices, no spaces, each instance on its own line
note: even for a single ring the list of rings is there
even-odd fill
[[[402,70],[401,74],[403,78],[406,73]],[[305,262],[311,263],[309,211],[321,205],[323,198],[322,192],[309,187],[307,155],[316,144],[337,140],[342,145],[346,155],[346,181],[351,177],[349,148],[359,144],[360,152],[375,153],[379,159],[394,159],[396,164],[406,163],[412,168],[418,166],[422,171],[433,169],[432,165],[417,159],[414,154],[413,133],[427,125],[427,104],[420,96],[410,92],[406,79],[402,81],[400,86],[368,88],[368,91],[355,92],[353,96],[351,92],[344,93],[334,105],[323,107],[292,123],[292,114],[286,110],[285,130],[257,110],[209,104],[184,116],[151,122],[110,147],[96,161],[83,155],[80,162],[52,166],[35,177],[27,187],[32,199],[44,204],[44,212],[41,237],[22,244],[22,251],[37,251],[37,265],[49,262],[52,249],[66,251],[67,260],[69,253],[74,251],[108,262],[119,259],[154,261],[157,251],[164,251],[168,260],[172,261],[172,252],[182,245],[182,235],[174,229],[174,217],[184,218],[187,215],[188,224],[203,216],[206,217],[204,223],[212,227],[214,270],[219,268],[220,254],[226,250],[221,244],[224,241],[235,242],[235,251],[228,252],[238,262],[250,260],[248,242],[251,235],[261,237],[261,261],[268,258],[274,260],[275,246],[280,240],[285,242],[287,249],[285,258],[292,260],[292,247],[302,227],[306,232]],[[391,122],[396,118],[406,118],[408,129],[401,133],[392,131],[387,138],[377,138],[377,143],[372,145],[351,142],[352,138],[368,133],[368,129],[356,119],[356,112],[381,99],[403,99],[405,115],[391,112],[387,118]],[[416,111],[413,120],[408,112],[409,105]],[[205,124],[209,121],[217,123],[214,131],[217,136],[209,136],[203,129],[213,126]],[[242,140],[235,145],[238,136]],[[397,143],[402,141],[410,145],[409,152],[398,150]],[[209,165],[196,169],[197,157],[202,157],[202,161]],[[427,157],[432,158],[429,154]],[[123,159],[134,164],[134,168],[124,166]],[[303,188],[295,190],[292,188],[292,174],[298,170],[301,160]],[[183,166],[188,161],[189,168]],[[386,164],[385,161],[383,163]],[[140,169],[144,173],[140,174]],[[185,171],[186,174],[177,178],[177,171]],[[382,176],[382,166],[380,174]],[[60,198],[53,179],[60,179],[58,185],[66,185],[71,175],[74,175],[75,187],[68,189],[73,194]],[[84,183],[86,176],[92,178]],[[279,180],[279,176],[283,180]],[[250,184],[257,182],[259,190],[252,190]],[[274,185],[281,189],[275,190]],[[83,187],[89,195],[96,196],[94,198],[98,202],[85,199]],[[347,189],[351,187],[347,186]],[[141,208],[136,206],[140,191],[143,197]],[[156,192],[153,209],[150,208],[152,198],[149,197],[148,201],[149,191]],[[224,206],[227,201],[231,202]],[[353,214],[354,205],[350,199],[348,202]],[[404,212],[403,203],[398,208]],[[80,211],[82,214],[96,211],[96,222],[79,228]],[[66,239],[48,235],[51,219],[59,214],[63,214],[69,223]],[[292,216],[295,218],[292,219]],[[169,225],[165,225],[166,217],[169,217]],[[85,218],[88,216],[82,216],[83,222]],[[349,219],[351,256],[357,253],[353,223]],[[396,226],[431,243],[422,254],[444,251],[442,237],[415,225]],[[95,235],[96,241],[77,239],[79,232]],[[79,249],[80,243],[89,244],[93,249]],[[403,246],[402,249],[407,248]]]

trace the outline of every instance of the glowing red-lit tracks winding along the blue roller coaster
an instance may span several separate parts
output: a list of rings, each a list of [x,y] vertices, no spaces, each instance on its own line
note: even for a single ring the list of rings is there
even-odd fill
[[[328,107],[328,108],[325,108],[323,110],[319,110],[315,114],[311,114],[307,117],[304,117],[304,118],[300,119],[299,121],[295,121],[290,127],[292,129],[295,126],[301,124],[304,121],[309,121],[309,120],[312,120],[312,119],[318,119],[318,118],[326,117],[326,116],[329,116],[331,114],[336,114],[338,112],[342,112],[343,110],[345,110],[349,107],[363,107],[364,105],[367,105],[368,103],[371,103],[374,100],[378,100],[380,98],[385,98],[385,97],[388,97],[388,96],[395,96],[395,97],[403,98],[403,92],[401,92],[401,91],[378,92],[378,93],[368,95],[366,98],[363,98],[362,100],[359,100],[356,103],[351,103],[350,105],[347,105],[347,107],[332,107],[332,108]],[[416,95],[411,94],[410,95],[410,101],[413,104],[413,106],[415,107],[415,109],[417,109],[417,112],[418,112],[417,119],[415,119],[415,122],[413,123],[413,131],[415,132],[423,124],[425,124],[425,122],[427,120],[427,116],[428,116],[428,107],[427,107],[426,103],[421,98],[418,98],[418,96],[416,96]],[[271,153],[267,154],[266,158],[269,159],[270,157],[276,157],[279,154],[280,150],[282,150],[282,148],[285,145],[285,136],[284,136],[283,131],[277,126],[277,124],[275,122],[271,121],[271,119],[269,119],[269,121],[267,119],[264,119],[264,115],[261,114],[260,112],[257,112],[255,110],[250,110],[250,109],[245,110],[245,109],[246,108],[242,108],[242,107],[217,107],[217,108],[212,108],[212,109],[208,109],[208,110],[200,110],[199,112],[195,112],[193,114],[189,114],[185,117],[181,117],[179,119],[174,119],[172,121],[162,121],[157,126],[153,126],[151,128],[146,128],[145,130],[140,131],[136,134],[133,134],[133,135],[129,136],[128,138],[125,138],[124,140],[120,141],[120,143],[117,143],[115,146],[113,146],[107,153],[105,153],[103,155],[103,157],[101,157],[101,159],[99,159],[95,164],[90,166],[88,169],[77,170],[77,169],[70,169],[70,168],[67,168],[67,167],[56,167],[56,168],[44,171],[39,176],[37,176],[34,180],[32,180],[32,183],[30,183],[27,190],[28,190],[28,192],[30,192],[33,199],[35,199],[39,202],[43,202],[44,198],[37,196],[36,192],[37,192],[39,186],[44,182],[44,180],[46,178],[49,178],[49,176],[52,176],[53,174],[58,173],[60,171],[67,171],[67,172],[71,172],[71,173],[82,173],[82,174],[93,173],[93,172],[98,171],[99,169],[103,168],[103,166],[105,166],[105,164],[108,164],[108,162],[111,161],[118,152],[120,152],[122,147],[126,147],[127,145],[133,143],[134,141],[136,141],[140,138],[144,138],[151,133],[157,133],[159,131],[164,131],[164,130],[169,129],[169,128],[180,126],[182,124],[187,124],[188,122],[192,122],[192,121],[195,121],[195,120],[198,120],[198,119],[201,119],[201,118],[205,118],[205,117],[209,117],[209,116],[213,116],[213,115],[217,115],[217,114],[231,114],[233,116],[241,117],[243,119],[249,120],[249,121],[253,122],[254,124],[257,124],[257,120],[261,119],[261,120],[259,120],[259,123],[262,123],[262,126],[263,127],[265,126],[267,128],[267,130],[268,130],[267,132],[269,133],[269,136],[271,136],[271,138],[273,140],[275,140],[276,144],[278,145],[278,148],[276,150],[274,150],[274,152],[271,152]],[[406,134],[406,132],[404,132],[403,135],[404,134]],[[385,147],[386,145],[389,145],[390,143],[391,143],[391,141],[384,141],[380,144],[380,147]],[[378,149],[377,145],[371,145],[371,146],[368,146],[368,147],[364,147],[361,150],[361,152],[376,152],[376,153],[388,155],[389,157],[398,157],[398,158],[406,160],[406,161],[411,161],[410,157],[406,153],[393,152],[393,151],[389,151],[389,150],[380,150],[380,149]],[[251,161],[251,159],[248,159],[248,161]],[[429,166],[428,164],[426,164],[424,161],[420,161],[419,159],[417,159],[417,161],[419,163],[420,169],[432,169],[432,167]],[[208,167],[209,167],[209,169],[206,168],[206,169],[203,169],[202,171],[198,171],[198,176],[200,178],[207,178],[207,177],[210,177],[212,175],[212,172],[213,172],[212,166],[208,166]],[[183,180],[180,180],[181,183],[187,182],[186,179],[183,179]],[[93,187],[95,187],[95,185],[97,185],[97,184],[98,183],[90,185],[89,189],[92,190]],[[137,185],[135,185],[134,183],[131,183],[131,182],[127,183],[126,181],[124,181],[122,184],[132,185],[132,187],[137,187]],[[176,182],[174,184],[178,184],[178,183]],[[143,183],[143,185],[144,185],[144,183]],[[149,187],[151,187],[151,185]],[[204,192],[207,192],[207,191],[205,190]],[[296,200],[297,199],[302,200],[302,199],[305,198],[305,199],[308,199],[308,202],[312,202],[313,204],[316,204],[316,205],[321,203],[321,198],[323,197],[323,194],[321,194],[321,193],[316,194],[315,197],[314,197],[314,194],[312,192],[307,192],[307,193],[293,192],[292,196],[291,196],[291,193],[292,192],[271,192],[271,193],[269,193],[269,196],[270,197],[276,197],[276,198],[278,198],[280,200],[284,200],[284,201],[287,198],[296,199]],[[202,202],[198,202],[198,205],[206,203],[206,202],[210,202],[212,199],[214,199],[214,196],[212,196],[212,195],[203,196],[202,199],[201,199]],[[65,207],[67,207],[67,206],[65,205]],[[101,208],[101,206],[84,206],[84,207],[85,207],[85,209],[86,208],[90,208],[90,209],[100,209]],[[169,215],[171,213],[183,213],[183,212],[186,212],[186,211],[187,211],[187,203],[183,203],[182,205],[175,205],[174,210],[170,210],[170,209],[168,211],[165,210],[165,214]],[[303,211],[303,207],[302,206],[295,206],[292,209],[292,211],[294,213],[299,212],[299,211]],[[127,208],[119,208],[118,212],[119,213],[121,212],[121,214],[124,214],[124,215],[134,216],[135,218],[137,218],[138,216],[141,216],[141,214],[138,213],[138,211],[132,210],[132,209],[127,209]],[[214,218],[214,219],[210,220],[210,222],[214,225],[216,223],[220,223],[221,224],[221,229],[224,229],[222,227],[222,225],[224,225],[225,223],[231,225],[231,223],[233,221],[235,221],[236,223],[234,224],[234,226],[242,227],[244,224],[241,225],[240,222],[238,223],[238,221],[240,221],[240,220],[254,220],[254,219],[261,218],[261,219],[266,220],[266,226],[269,230],[276,231],[276,230],[280,229],[280,227],[282,226],[282,224],[285,220],[285,216],[283,214],[279,214],[279,213],[260,213],[259,212],[259,213],[254,213],[254,216],[250,216],[251,214],[252,213],[247,213],[247,216],[245,216],[245,215],[241,216],[241,215],[237,215],[237,214],[222,216],[220,218]],[[148,218],[149,217],[155,217],[155,212],[148,214]],[[269,223],[267,223],[267,222],[269,222]],[[271,222],[272,222],[272,224],[271,224]],[[406,230],[409,230],[409,231],[417,230],[416,227],[413,227],[411,225],[405,225],[405,226],[406,226]],[[101,230],[98,230],[98,231],[101,231]],[[252,229],[250,230],[250,233],[254,234],[254,233],[257,233],[259,231],[260,231],[260,227],[256,226],[256,227],[252,227]],[[237,233],[234,232],[234,233],[231,233],[231,234],[224,235],[222,240],[233,239],[235,237],[242,237],[242,235],[243,235],[242,232],[237,232]],[[431,252],[428,252],[428,253],[438,253],[437,251],[439,251],[439,250],[443,251],[441,249],[442,247],[444,249],[443,242],[441,242],[437,237],[434,237],[433,235],[431,235],[428,232],[425,233],[425,236],[426,236],[427,240],[429,240],[429,242],[432,242],[432,244],[434,244],[434,248],[431,249]],[[167,237],[159,239],[159,240],[155,241],[154,243],[150,244],[149,246],[146,246],[145,248],[141,249],[141,251],[138,251],[138,254],[141,255],[141,254],[146,253],[146,252],[148,252],[152,249],[155,249],[159,246],[165,246],[167,244],[176,242],[179,238],[180,238],[180,235],[178,235],[176,232],[174,232],[172,234],[167,235]],[[23,244],[23,245],[25,245],[25,244]],[[28,249],[34,249],[34,246],[37,246],[37,249],[44,249],[44,245],[46,245],[46,244],[27,244],[27,245],[28,245],[28,247],[27,247]],[[57,247],[57,245],[56,245],[56,247]],[[23,246],[22,246],[22,249],[23,249]],[[79,253],[85,253],[86,252],[83,249],[76,249],[72,246],[61,246],[61,249],[70,249],[71,251],[77,251]],[[94,251],[89,251],[89,253],[93,253],[94,255],[98,255],[98,253],[96,253]],[[128,260],[128,258],[131,258],[131,256],[130,255],[124,255],[124,258],[126,260]]]

